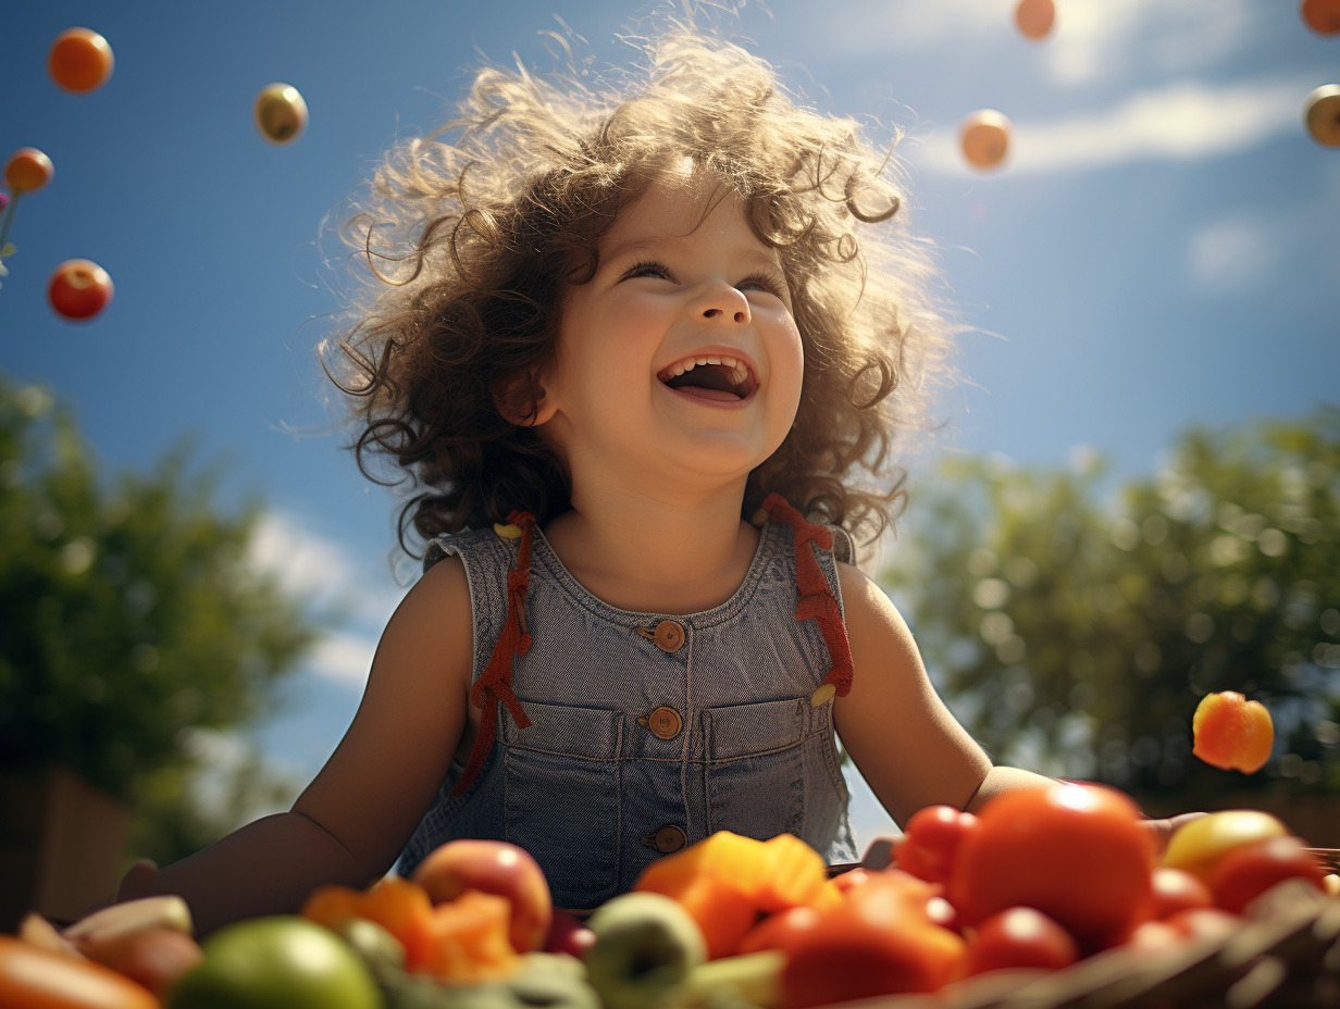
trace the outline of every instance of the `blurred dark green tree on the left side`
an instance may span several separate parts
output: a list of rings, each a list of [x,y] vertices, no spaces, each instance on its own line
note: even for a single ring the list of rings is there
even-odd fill
[[[0,374],[0,772],[60,765],[127,803],[130,847],[172,860],[239,807],[291,796],[255,754],[196,793],[210,732],[268,713],[316,641],[304,602],[248,560],[188,448],[106,480],[68,407]]]

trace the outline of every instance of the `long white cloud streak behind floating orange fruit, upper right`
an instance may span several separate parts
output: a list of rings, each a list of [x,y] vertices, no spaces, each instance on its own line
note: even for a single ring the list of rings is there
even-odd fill
[[[1045,174],[1229,154],[1301,130],[1305,95],[1298,82],[1280,79],[1222,86],[1181,82],[1107,110],[1052,122],[1016,122],[1004,170]],[[957,143],[957,133],[933,137],[909,159],[931,170],[967,174]]]

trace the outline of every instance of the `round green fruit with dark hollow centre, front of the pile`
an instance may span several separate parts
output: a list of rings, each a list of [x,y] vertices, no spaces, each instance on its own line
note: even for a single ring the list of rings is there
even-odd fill
[[[596,909],[587,925],[595,941],[583,962],[606,1009],[667,1005],[706,959],[698,923],[665,894],[623,894]]]

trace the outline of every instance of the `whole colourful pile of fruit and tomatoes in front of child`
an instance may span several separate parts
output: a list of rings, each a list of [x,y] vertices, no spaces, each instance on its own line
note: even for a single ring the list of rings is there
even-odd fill
[[[7,1009],[884,1009],[1340,1002],[1340,878],[1273,816],[1155,855],[1120,792],[1057,784],[918,812],[890,867],[831,876],[791,835],[654,863],[586,922],[531,856],[442,846],[204,943],[153,896],[0,935]]]

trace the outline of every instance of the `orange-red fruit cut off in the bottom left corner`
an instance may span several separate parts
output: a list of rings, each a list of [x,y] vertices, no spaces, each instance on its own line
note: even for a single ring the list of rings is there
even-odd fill
[[[158,1009],[158,1000],[115,970],[0,935],[5,1009]]]

